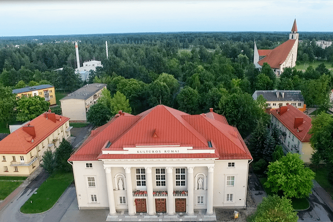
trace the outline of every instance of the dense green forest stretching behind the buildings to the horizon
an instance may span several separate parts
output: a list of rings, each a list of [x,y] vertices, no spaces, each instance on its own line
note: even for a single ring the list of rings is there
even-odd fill
[[[333,46],[321,49],[315,44],[332,37],[333,33],[300,34],[298,63],[333,64]],[[12,88],[50,83],[68,90],[107,83],[112,94],[119,91],[129,99],[134,114],[160,102],[190,114],[212,107],[245,135],[264,117],[264,101],[251,97],[255,90],[302,90],[308,105],[329,105],[332,74],[323,64],[316,69],[309,66],[305,72],[286,69],[278,79],[268,64],[261,71],[253,66],[254,39],[258,48],[270,49],[288,38],[287,32],[8,37],[0,42],[0,82]],[[74,41],[79,41],[81,66],[89,60],[103,65],[85,83],[74,73]],[[53,71],[61,67],[63,71]]]

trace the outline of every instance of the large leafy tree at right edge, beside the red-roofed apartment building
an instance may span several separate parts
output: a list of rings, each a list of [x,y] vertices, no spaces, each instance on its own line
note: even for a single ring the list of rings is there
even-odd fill
[[[333,166],[333,117],[321,112],[311,124],[310,143],[314,150],[311,161],[314,164],[323,161]]]

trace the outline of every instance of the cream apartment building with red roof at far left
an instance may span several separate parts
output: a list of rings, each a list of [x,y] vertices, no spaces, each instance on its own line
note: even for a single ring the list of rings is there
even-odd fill
[[[0,141],[0,176],[29,176],[46,150],[71,135],[69,118],[45,112]]]

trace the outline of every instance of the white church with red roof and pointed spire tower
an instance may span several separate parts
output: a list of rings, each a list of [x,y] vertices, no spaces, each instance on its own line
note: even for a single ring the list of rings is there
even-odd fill
[[[268,63],[276,76],[280,76],[287,67],[296,66],[298,33],[296,19],[289,34],[289,40],[274,49],[258,49],[254,41],[253,63],[256,68],[261,68]]]

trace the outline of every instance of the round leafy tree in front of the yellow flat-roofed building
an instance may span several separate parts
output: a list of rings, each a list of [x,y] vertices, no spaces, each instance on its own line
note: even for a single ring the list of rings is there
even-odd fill
[[[21,97],[17,101],[16,120],[26,122],[33,120],[48,110],[49,102],[39,96]]]

